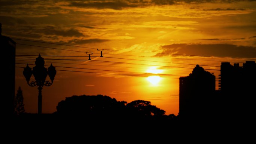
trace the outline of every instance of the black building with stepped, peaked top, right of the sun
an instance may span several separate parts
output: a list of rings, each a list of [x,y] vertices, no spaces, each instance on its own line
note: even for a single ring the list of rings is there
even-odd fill
[[[213,109],[215,76],[196,65],[188,77],[180,77],[181,120],[208,118]]]

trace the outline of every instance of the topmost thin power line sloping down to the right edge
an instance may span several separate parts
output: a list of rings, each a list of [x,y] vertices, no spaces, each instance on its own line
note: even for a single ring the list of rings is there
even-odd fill
[[[34,41],[34,40],[24,40],[24,39],[15,39],[15,40],[38,42],[38,43],[48,43],[48,44],[53,44],[53,45],[73,46],[73,47],[79,47],[79,48],[96,49],[96,48],[89,48],[89,47],[84,47],[84,46],[65,45],[65,44],[59,44],[59,43],[40,42],[40,41]],[[16,43],[16,44],[24,45],[24,44],[20,44],[20,43]],[[201,57],[209,57],[209,58],[227,58],[227,57],[222,57],[222,56],[185,55],[185,54],[173,54],[173,53],[140,52],[140,51],[131,51],[131,50],[113,50],[113,49],[104,49],[104,50],[121,51],[121,52],[155,53],[155,54],[165,54],[165,55],[201,56]],[[229,58],[229,59],[246,59],[246,58]],[[247,60],[256,60],[256,59],[247,59]]]

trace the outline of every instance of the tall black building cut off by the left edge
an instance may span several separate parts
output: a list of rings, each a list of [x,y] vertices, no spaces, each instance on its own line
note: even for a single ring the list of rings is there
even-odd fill
[[[1,47],[1,113],[4,116],[14,115],[15,98],[15,46],[16,43],[9,37],[2,36],[0,23]]]

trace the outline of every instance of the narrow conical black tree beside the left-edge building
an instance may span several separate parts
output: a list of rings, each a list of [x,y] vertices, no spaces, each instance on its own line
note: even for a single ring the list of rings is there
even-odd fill
[[[19,86],[19,89],[17,91],[17,94],[15,96],[15,114],[20,115],[25,112],[24,109],[24,103],[23,103],[23,95],[21,87]]]

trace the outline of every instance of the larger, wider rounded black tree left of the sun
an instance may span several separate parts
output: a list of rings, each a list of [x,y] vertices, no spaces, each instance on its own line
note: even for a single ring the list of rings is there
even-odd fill
[[[124,114],[126,103],[103,95],[75,95],[59,102],[56,114],[113,118]]]

